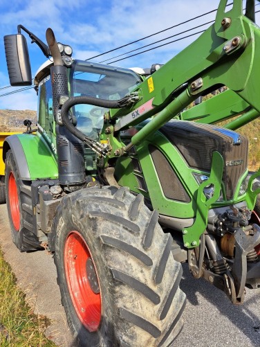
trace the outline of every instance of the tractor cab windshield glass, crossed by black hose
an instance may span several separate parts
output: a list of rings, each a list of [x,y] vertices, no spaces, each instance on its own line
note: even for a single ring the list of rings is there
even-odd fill
[[[142,80],[129,69],[75,60],[71,68],[71,96],[93,96],[106,100],[120,100]],[[75,105],[77,128],[96,139],[108,109],[93,105]]]

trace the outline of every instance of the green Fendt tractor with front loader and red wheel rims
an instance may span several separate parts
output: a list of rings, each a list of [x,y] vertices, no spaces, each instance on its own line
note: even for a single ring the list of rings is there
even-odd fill
[[[260,286],[260,172],[249,177],[248,140],[230,130],[260,112],[260,30],[254,1],[245,15],[226,5],[148,73],[73,60],[50,28],[48,46],[21,25],[4,37],[12,85],[32,80],[21,29],[53,57],[34,80],[37,131],[3,143],[6,200],[17,248],[54,254],[80,346],[171,346],[183,262],[232,303]],[[210,124],[237,114],[230,129]]]

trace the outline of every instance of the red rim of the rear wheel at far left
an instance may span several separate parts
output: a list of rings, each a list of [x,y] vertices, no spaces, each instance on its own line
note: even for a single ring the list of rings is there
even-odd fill
[[[20,229],[20,208],[19,208],[19,197],[17,191],[17,184],[15,181],[15,176],[10,172],[8,181],[8,197],[10,213],[12,217],[12,224],[16,231]]]

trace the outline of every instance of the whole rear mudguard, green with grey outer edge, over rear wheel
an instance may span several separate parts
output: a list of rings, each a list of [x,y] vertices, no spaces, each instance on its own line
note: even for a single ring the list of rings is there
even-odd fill
[[[38,132],[8,136],[3,143],[3,161],[10,149],[15,157],[21,179],[25,181],[57,179],[58,169],[55,155]]]

